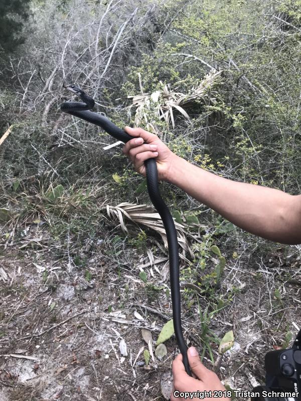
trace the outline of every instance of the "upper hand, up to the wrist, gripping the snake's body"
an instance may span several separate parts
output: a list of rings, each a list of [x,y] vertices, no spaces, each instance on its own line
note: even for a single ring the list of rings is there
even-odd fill
[[[168,181],[172,174],[172,166],[177,162],[178,156],[155,134],[144,131],[142,128],[127,126],[124,130],[129,135],[137,137],[129,140],[122,149],[123,153],[133,162],[136,171],[145,177],[144,161],[156,157],[159,180]]]

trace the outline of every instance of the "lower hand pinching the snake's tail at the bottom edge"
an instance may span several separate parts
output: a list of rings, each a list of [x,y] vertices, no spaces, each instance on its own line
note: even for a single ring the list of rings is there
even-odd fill
[[[172,391],[171,401],[180,401],[185,399],[191,399],[192,401],[231,401],[227,395],[226,388],[221,383],[218,376],[207,369],[200,360],[198,351],[195,347],[188,349],[188,361],[192,372],[196,378],[189,376],[182,362],[182,354],[179,354],[173,362],[173,376],[174,376],[174,388]],[[186,398],[180,397],[181,392],[195,392],[193,398],[190,398],[186,394]],[[199,391],[199,394],[197,392]],[[215,395],[215,397],[214,397]],[[221,397],[219,395],[222,395]]]

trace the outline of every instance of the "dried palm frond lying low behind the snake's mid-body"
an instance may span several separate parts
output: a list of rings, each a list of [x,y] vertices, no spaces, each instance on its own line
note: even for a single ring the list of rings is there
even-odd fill
[[[107,205],[106,210],[110,219],[114,220],[115,222],[117,220],[119,221],[121,230],[124,233],[128,233],[125,223],[126,218],[137,225],[142,225],[149,229],[155,230],[161,235],[165,247],[168,247],[167,236],[163,222],[159,213],[157,213],[152,206],[122,203],[117,206]],[[189,246],[188,236],[193,237],[197,241],[200,241],[200,238],[197,239],[195,236],[189,233],[182,224],[175,222],[175,227],[177,230],[178,242],[183,251],[180,257],[186,259],[185,255],[188,252],[189,255],[194,258],[194,253]]]

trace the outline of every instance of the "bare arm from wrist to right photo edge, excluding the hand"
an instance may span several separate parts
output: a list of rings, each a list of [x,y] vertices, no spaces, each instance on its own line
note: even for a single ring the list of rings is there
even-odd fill
[[[232,181],[178,158],[168,180],[243,230],[282,244],[301,243],[301,195]]]

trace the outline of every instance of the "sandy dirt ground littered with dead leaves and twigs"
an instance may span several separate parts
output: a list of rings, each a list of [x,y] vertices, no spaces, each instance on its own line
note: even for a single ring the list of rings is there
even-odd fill
[[[138,266],[144,266],[154,286],[168,289],[166,261],[160,262],[167,254],[158,249],[152,264],[146,253],[123,248],[123,262],[117,263],[98,238],[92,251],[83,250],[83,269],[55,256],[64,245],[52,241],[44,226],[25,232],[12,241],[4,235],[1,240],[1,401],[165,399],[162,391],[171,385],[177,354],[175,338],[166,341],[168,353],[162,360],[155,356],[146,366],[141,329],[152,332],[155,349],[171,319],[171,301],[163,292],[149,296]],[[264,384],[265,353],[301,326],[300,255],[298,246],[279,246],[256,262],[249,263],[243,254],[226,258],[223,291],[236,291],[233,301],[213,315],[210,330],[219,338],[234,331],[234,346],[216,367],[232,388],[245,391]],[[181,288],[184,292],[185,283]],[[200,294],[199,299],[204,307],[205,298]],[[187,308],[183,302],[183,326],[187,341],[201,351],[204,331],[196,304]],[[127,356],[120,352],[122,339]],[[215,360],[217,350],[212,344]],[[204,363],[212,367],[207,352]]]

